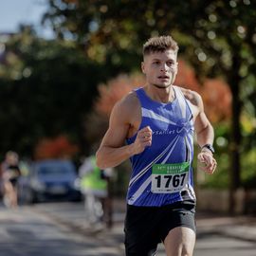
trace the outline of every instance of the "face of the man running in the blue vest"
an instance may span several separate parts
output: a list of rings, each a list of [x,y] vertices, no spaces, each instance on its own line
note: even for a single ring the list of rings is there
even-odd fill
[[[158,88],[167,88],[174,83],[176,77],[176,53],[172,49],[151,53],[144,57],[141,67],[147,83]]]

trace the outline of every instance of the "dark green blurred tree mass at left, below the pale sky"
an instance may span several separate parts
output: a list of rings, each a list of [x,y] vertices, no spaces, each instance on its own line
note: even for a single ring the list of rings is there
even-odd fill
[[[15,149],[31,155],[41,137],[60,134],[82,143],[82,119],[97,96],[97,84],[105,80],[104,67],[86,60],[74,44],[27,31],[9,39],[3,66],[1,153]]]

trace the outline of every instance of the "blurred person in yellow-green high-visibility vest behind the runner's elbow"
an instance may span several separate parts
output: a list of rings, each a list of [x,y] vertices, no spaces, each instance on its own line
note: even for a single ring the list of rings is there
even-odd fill
[[[111,168],[101,170],[96,165],[95,155],[84,159],[79,168],[81,192],[89,224],[93,228],[112,227],[112,200],[110,194]]]

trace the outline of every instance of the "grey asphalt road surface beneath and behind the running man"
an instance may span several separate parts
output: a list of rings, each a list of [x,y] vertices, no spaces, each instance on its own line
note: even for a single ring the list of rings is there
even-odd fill
[[[114,215],[112,230],[84,231],[82,203],[39,204],[7,210],[0,207],[1,256],[124,255],[123,212]],[[160,245],[158,256],[164,256]],[[256,243],[198,229],[194,256],[255,256]]]

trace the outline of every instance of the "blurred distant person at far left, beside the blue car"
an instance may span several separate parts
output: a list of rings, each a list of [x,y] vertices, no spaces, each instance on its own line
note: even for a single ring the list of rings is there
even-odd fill
[[[13,151],[6,154],[5,160],[1,165],[3,179],[4,204],[9,208],[18,206],[18,179],[21,175],[19,168],[19,155]]]

